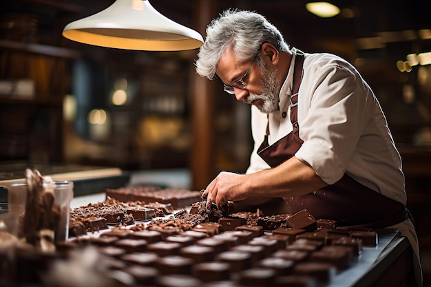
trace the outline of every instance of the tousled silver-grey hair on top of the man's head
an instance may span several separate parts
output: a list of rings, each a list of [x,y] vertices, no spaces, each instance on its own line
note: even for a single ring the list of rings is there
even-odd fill
[[[233,48],[239,61],[247,61],[253,59],[266,42],[275,45],[279,52],[289,49],[282,33],[261,14],[237,9],[225,10],[207,27],[207,38],[199,49],[195,63],[196,72],[212,80],[215,66],[227,47]]]

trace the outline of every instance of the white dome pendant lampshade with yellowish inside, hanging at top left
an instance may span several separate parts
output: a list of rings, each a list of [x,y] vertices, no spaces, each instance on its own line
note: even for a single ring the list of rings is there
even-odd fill
[[[191,50],[203,43],[198,32],[163,16],[147,0],[116,0],[101,12],[67,24],[63,36],[127,50]]]

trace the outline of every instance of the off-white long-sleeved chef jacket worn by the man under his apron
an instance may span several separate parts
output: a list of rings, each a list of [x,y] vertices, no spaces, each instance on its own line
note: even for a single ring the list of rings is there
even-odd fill
[[[257,155],[269,123],[269,145],[292,131],[290,96],[295,48],[280,91],[279,111],[263,114],[251,106],[255,142],[246,173],[269,169]],[[406,204],[405,181],[399,152],[379,102],[359,72],[333,54],[305,53],[297,99],[299,138],[295,157],[309,164],[324,182],[333,184],[344,173],[364,186]],[[410,220],[397,224],[410,240],[417,257],[417,237]]]

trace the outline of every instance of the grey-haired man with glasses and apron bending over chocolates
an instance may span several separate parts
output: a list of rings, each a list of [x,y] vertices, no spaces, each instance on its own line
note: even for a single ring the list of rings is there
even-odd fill
[[[283,198],[339,225],[399,228],[417,255],[401,158],[386,118],[353,65],[288,47],[255,12],[226,10],[207,27],[196,71],[251,105],[255,146],[245,174],[221,172],[203,196],[264,204]]]

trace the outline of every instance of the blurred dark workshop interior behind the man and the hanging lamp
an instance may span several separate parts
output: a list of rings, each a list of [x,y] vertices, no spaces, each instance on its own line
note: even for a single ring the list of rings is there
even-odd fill
[[[305,0],[154,0],[204,30],[227,8],[255,10],[289,45],[353,63],[379,98],[403,157],[410,209],[429,248],[431,1],[334,0],[334,17]],[[61,32],[114,0],[5,0],[0,22],[0,160],[183,169],[191,189],[245,171],[250,107],[196,75],[198,50],[148,52],[76,43]],[[425,249],[424,249],[425,250]],[[428,250],[428,249],[427,249]]]

